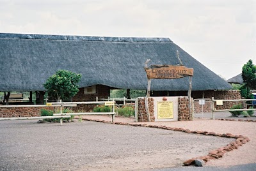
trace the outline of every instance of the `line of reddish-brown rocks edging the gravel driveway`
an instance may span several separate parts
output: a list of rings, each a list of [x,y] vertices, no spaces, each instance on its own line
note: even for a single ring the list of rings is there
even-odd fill
[[[101,122],[101,123],[111,123],[111,124],[121,124],[121,125],[129,125],[129,126],[145,126],[149,128],[159,128],[164,130],[172,130],[172,131],[182,131],[184,133],[194,133],[194,134],[201,134],[201,135],[208,135],[208,136],[215,136],[215,137],[225,137],[225,138],[234,138],[234,142],[230,142],[224,147],[220,147],[218,149],[209,151],[209,153],[205,156],[198,156],[195,158],[191,158],[183,162],[185,166],[195,165],[195,160],[201,159],[204,160],[205,163],[209,160],[217,160],[218,158],[222,158],[226,152],[233,151],[234,149],[238,149],[239,146],[246,144],[250,141],[250,138],[243,136],[243,135],[233,135],[232,133],[214,133],[208,131],[193,131],[185,128],[173,128],[168,126],[157,126],[152,124],[140,124],[140,123],[122,123],[122,122],[111,122],[105,121],[100,119],[86,119],[83,118],[84,121],[94,121],[94,122]],[[221,119],[220,119],[221,120]]]

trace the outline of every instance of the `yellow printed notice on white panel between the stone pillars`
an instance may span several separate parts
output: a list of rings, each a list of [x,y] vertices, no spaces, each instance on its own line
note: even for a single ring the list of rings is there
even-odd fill
[[[173,101],[157,101],[157,119],[173,119]]]

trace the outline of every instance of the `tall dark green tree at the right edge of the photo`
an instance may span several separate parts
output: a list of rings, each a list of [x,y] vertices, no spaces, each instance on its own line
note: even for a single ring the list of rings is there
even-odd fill
[[[244,98],[253,98],[251,89],[256,89],[256,66],[253,65],[252,60],[250,59],[243,66],[242,77],[244,84],[241,86],[241,96]]]

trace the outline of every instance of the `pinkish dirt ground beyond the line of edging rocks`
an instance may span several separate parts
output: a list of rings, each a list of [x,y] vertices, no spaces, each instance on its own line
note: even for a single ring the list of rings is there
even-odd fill
[[[96,115],[86,115],[86,119],[100,119],[105,121],[111,121],[109,116],[96,116]],[[225,118],[225,119],[252,119],[256,120],[256,117],[250,118],[237,118],[230,117],[230,114],[223,112],[216,112],[216,118]],[[125,117],[116,117],[116,122],[134,122],[133,118]],[[256,163],[256,123],[244,122],[244,121],[220,121],[212,119],[195,119],[194,121],[174,121],[174,122],[151,122],[151,123],[139,123],[139,124],[153,124],[153,125],[162,125],[170,126],[175,128],[186,128],[189,130],[198,130],[198,131],[209,131],[215,133],[232,133],[234,135],[244,135],[250,138],[250,142],[244,144],[231,152],[225,153],[223,158],[218,160],[210,160],[207,162],[207,166],[218,166],[218,167],[229,167],[232,165],[243,165],[249,163]],[[211,145],[211,144],[209,144]],[[222,147],[222,146],[221,146]],[[193,156],[197,156],[194,154]],[[163,166],[164,167],[164,163]]]

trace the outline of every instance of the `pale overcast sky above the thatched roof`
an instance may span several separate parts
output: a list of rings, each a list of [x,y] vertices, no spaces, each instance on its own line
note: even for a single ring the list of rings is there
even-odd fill
[[[0,33],[170,38],[227,80],[256,64],[256,0],[0,0]]]

